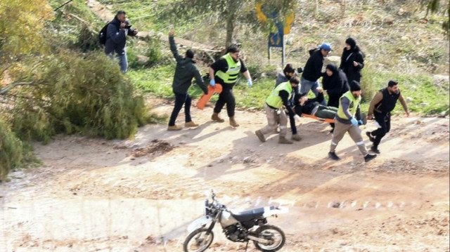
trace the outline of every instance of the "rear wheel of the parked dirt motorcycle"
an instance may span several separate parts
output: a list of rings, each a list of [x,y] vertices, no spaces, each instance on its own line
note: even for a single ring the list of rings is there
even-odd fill
[[[279,251],[283,248],[283,245],[286,241],[286,237],[284,235],[283,230],[280,227],[276,227],[273,225],[264,225],[259,227],[255,234],[257,237],[266,239],[268,242],[265,244],[259,243],[258,241],[253,241],[255,247],[259,251],[263,252],[275,252]]]

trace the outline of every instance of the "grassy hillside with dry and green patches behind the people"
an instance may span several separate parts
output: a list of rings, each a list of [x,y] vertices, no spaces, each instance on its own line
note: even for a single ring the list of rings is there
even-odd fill
[[[319,3],[316,6],[316,2]],[[286,62],[303,67],[307,51],[322,42],[332,44],[330,55],[340,56],[345,39],[353,37],[366,54],[366,68],[361,84],[366,102],[373,93],[387,84],[389,79],[399,80],[404,95],[409,98],[411,110],[422,114],[435,114],[449,107],[448,86],[433,84],[433,74],[449,74],[449,41],[444,36],[442,13],[425,17],[425,8],[419,1],[299,1],[291,33],[285,36]],[[198,41],[212,46],[224,44],[224,22],[217,15],[198,15],[176,18],[162,15],[174,1],[101,1],[115,12],[127,11],[134,27],[167,34],[174,28],[176,37]],[[274,84],[276,69],[281,69],[281,52],[272,50],[267,58],[266,33],[250,27],[236,27],[234,39],[243,44],[245,61],[255,79],[253,88],[236,87],[240,107],[261,108],[263,100]],[[136,86],[164,98],[172,98],[172,70],[174,62],[167,44],[162,45],[163,60],[153,67],[138,67],[134,55],[145,51],[136,41],[129,44],[131,68],[129,77]],[[183,51],[181,49],[181,51]],[[201,66],[203,73],[207,66]],[[191,90],[200,95],[199,88]],[[397,107],[400,110],[400,107]]]

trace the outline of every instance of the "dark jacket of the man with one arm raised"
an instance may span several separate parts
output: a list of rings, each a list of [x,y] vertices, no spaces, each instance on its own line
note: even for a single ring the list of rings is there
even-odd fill
[[[191,58],[183,58],[179,55],[176,49],[174,37],[169,36],[170,51],[175,57],[176,68],[174,74],[174,82],[172,83],[172,89],[174,93],[185,94],[188,92],[188,88],[191,86],[192,78],[195,77],[195,82],[204,93],[208,93],[208,88],[203,82],[202,75],[198,68],[194,65],[195,61]]]

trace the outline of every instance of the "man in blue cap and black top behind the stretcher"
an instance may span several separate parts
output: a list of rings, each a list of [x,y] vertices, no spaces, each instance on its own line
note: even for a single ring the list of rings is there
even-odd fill
[[[317,96],[319,87],[319,78],[322,77],[323,58],[331,51],[330,44],[323,43],[319,48],[309,51],[309,59],[303,68],[300,93],[308,93],[311,90]],[[325,100],[321,102],[326,105]]]

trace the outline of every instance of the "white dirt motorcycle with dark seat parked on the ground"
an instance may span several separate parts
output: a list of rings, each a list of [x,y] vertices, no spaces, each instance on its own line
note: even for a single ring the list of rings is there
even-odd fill
[[[219,222],[227,239],[234,242],[251,240],[259,251],[274,252],[285,244],[285,234],[280,227],[267,225],[267,217],[278,217],[286,213],[286,208],[266,206],[250,211],[235,212],[217,201],[216,194],[211,190],[210,202],[205,200],[205,215],[194,220],[188,226],[188,237],[184,241],[184,252],[203,252],[212,244],[214,233],[212,229]]]

